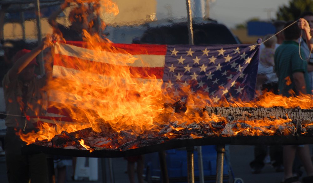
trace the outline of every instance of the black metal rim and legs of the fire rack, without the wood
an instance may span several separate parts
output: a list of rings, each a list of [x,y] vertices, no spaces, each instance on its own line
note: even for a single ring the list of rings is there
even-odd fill
[[[117,150],[75,150],[64,148],[53,148],[30,144],[22,147],[23,154],[47,153],[64,156],[77,157],[127,157],[143,155],[152,152],[158,152],[160,157],[160,168],[162,174],[162,182],[169,182],[167,175],[167,166],[165,161],[165,151],[176,148],[186,147],[187,150],[187,180],[188,183],[194,183],[194,163],[193,150],[194,146],[217,145],[217,170],[216,182],[223,182],[223,161],[225,153],[225,145],[300,145],[312,144],[313,136],[305,135],[289,135],[289,136],[229,136],[229,137],[205,137],[197,139],[169,140],[162,144],[153,146],[144,146],[126,151]]]

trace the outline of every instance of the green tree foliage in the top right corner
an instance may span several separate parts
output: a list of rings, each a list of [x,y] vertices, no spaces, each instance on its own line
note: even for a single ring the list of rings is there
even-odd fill
[[[279,7],[276,15],[278,20],[293,21],[303,12],[313,12],[313,0],[290,0],[287,5]]]

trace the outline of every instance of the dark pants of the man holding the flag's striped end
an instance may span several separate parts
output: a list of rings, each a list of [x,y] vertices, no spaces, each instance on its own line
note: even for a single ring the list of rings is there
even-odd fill
[[[46,154],[22,155],[25,143],[15,135],[13,128],[7,128],[4,137],[5,160],[10,183],[48,183]]]

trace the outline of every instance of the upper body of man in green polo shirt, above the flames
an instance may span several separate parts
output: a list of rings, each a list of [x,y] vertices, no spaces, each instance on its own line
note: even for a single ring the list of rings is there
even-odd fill
[[[299,55],[300,29],[293,24],[284,31],[285,41],[275,52],[275,72],[278,76],[279,94],[283,96],[310,94],[311,86],[307,72],[307,62]],[[301,57],[305,54],[300,50]]]

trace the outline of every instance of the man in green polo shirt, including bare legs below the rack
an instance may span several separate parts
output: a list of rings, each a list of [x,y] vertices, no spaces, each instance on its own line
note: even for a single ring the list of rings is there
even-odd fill
[[[311,93],[307,62],[301,59],[301,57],[305,58],[302,50],[299,52],[298,39],[300,37],[300,29],[297,24],[292,23],[293,22],[287,22],[285,24],[285,41],[276,49],[274,57],[275,72],[278,76],[279,94],[287,97],[299,95],[299,93]],[[299,54],[301,54],[301,57]],[[312,182],[310,179],[311,177],[313,178],[313,164],[308,145],[284,146],[283,182],[299,182],[298,177],[293,176],[292,174],[292,166],[296,151],[298,151],[299,158],[302,165],[305,167],[307,174],[307,177],[303,179],[303,182]]]

